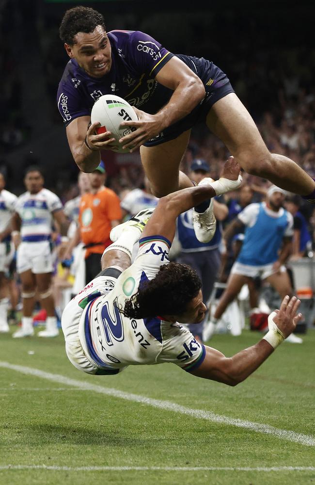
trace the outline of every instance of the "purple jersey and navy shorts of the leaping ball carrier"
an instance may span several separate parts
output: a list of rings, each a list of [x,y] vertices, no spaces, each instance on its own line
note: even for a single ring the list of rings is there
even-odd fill
[[[173,94],[155,80],[159,70],[175,55],[203,81],[205,97],[184,118],[167,127],[144,146],[154,146],[173,140],[180,133],[204,122],[211,106],[234,92],[226,74],[211,61],[183,54],[172,54],[159,42],[140,31],[108,32],[111,45],[110,72],[102,78],[92,78],[75,59],[65,67],[59,83],[57,102],[65,126],[80,116],[90,116],[96,99],[105,94],[120,96],[140,110],[155,114]]]

